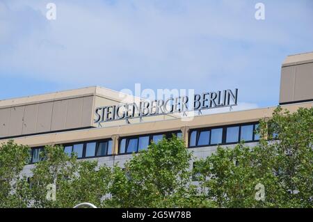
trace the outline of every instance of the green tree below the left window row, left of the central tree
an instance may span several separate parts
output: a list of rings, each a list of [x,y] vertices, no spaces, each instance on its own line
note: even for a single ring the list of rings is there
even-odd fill
[[[97,161],[77,161],[75,154],[67,156],[61,146],[46,146],[41,157],[29,186],[33,207],[74,207],[83,202],[102,205],[109,188],[109,168],[98,167]],[[56,187],[55,199],[49,186]]]

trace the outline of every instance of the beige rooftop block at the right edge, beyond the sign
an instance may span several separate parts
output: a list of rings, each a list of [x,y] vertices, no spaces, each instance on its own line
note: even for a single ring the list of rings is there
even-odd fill
[[[313,100],[313,53],[288,56],[282,64],[280,104]]]

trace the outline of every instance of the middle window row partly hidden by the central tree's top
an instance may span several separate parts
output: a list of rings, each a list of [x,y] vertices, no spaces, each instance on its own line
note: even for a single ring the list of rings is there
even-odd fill
[[[164,134],[150,134],[144,136],[131,136],[128,138],[122,138],[120,140],[119,153],[129,154],[132,152],[139,152],[141,150],[147,150],[148,146],[153,143],[159,143],[165,136],[166,138],[172,137],[175,134],[177,137],[181,137],[181,132],[166,132]]]

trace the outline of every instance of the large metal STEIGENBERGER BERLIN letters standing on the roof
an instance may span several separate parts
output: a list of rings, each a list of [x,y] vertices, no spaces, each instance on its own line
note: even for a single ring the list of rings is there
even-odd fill
[[[95,109],[95,123],[113,120],[143,118],[186,111],[201,111],[225,106],[236,106],[238,89],[195,94],[193,97],[170,97],[168,100],[141,101],[139,103],[120,103]],[[191,107],[188,107],[191,106]]]

